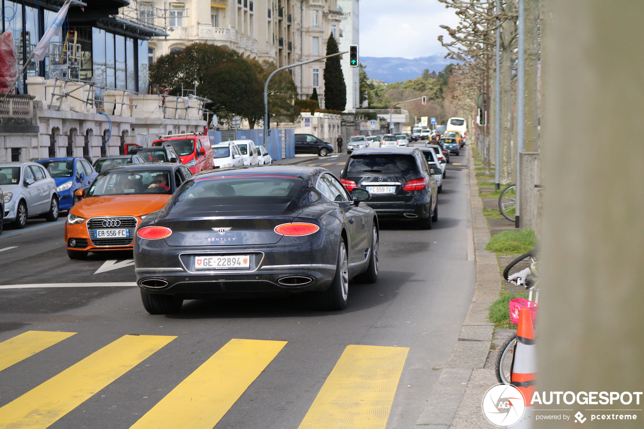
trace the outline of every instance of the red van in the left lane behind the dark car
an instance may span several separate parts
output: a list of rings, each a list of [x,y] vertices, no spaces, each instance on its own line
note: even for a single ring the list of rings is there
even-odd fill
[[[165,146],[167,143],[172,145],[181,162],[191,172],[213,169],[213,149],[210,139],[203,132],[163,136],[160,140],[153,141],[152,146]]]

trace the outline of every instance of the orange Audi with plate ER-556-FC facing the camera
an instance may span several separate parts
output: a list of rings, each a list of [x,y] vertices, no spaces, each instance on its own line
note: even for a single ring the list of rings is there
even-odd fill
[[[137,225],[166,206],[192,172],[178,163],[126,164],[100,172],[67,216],[65,242],[70,259],[89,251],[132,250]]]

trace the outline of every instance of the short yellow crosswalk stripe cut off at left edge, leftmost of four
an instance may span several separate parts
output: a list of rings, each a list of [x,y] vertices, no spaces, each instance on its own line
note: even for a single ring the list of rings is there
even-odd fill
[[[75,332],[27,331],[0,343],[0,371],[55,343],[70,338]]]

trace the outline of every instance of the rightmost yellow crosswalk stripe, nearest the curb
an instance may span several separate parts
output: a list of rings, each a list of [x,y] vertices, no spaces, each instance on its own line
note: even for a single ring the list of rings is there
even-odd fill
[[[346,346],[299,429],[384,429],[408,351]]]

